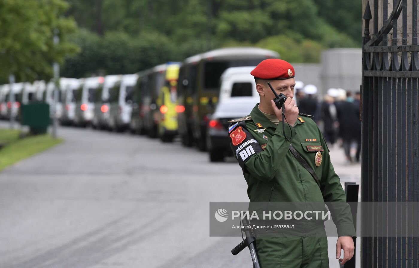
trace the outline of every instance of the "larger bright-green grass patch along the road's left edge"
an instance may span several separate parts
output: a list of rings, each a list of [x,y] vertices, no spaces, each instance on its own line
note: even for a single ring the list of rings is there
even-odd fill
[[[40,153],[62,143],[62,141],[62,139],[53,139],[49,134],[14,140],[0,149],[0,171],[24,158],[33,156],[36,153]]]

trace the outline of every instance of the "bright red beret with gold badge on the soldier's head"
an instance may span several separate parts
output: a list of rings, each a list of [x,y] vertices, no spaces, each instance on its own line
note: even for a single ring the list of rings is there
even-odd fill
[[[294,67],[282,59],[266,59],[250,72],[255,79],[284,80],[295,75]]]

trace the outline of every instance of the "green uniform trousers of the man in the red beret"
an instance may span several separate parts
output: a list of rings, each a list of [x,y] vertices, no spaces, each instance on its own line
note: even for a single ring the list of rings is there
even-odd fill
[[[257,237],[261,268],[329,268],[327,237]]]

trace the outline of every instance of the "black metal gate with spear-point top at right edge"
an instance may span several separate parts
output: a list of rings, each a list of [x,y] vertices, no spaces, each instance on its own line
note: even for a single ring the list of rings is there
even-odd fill
[[[418,201],[417,8],[417,0],[371,0],[364,6],[363,202]],[[388,221],[418,225],[413,217],[392,216]],[[362,268],[418,268],[418,257],[418,237],[362,237]]]

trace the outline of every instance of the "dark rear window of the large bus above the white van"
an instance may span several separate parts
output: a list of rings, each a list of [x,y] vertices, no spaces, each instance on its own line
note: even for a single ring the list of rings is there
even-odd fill
[[[204,90],[217,90],[225,69],[240,66],[256,66],[264,59],[237,59],[230,61],[206,61],[204,64]]]

